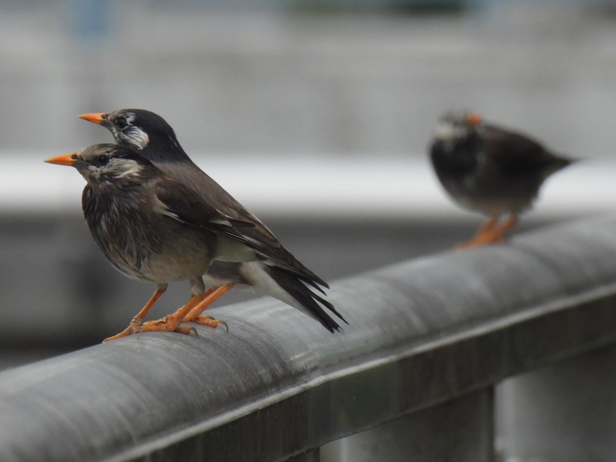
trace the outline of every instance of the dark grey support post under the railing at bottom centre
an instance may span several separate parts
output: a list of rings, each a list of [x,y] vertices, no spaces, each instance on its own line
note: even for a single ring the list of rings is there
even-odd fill
[[[492,462],[487,387],[323,447],[322,462]]]

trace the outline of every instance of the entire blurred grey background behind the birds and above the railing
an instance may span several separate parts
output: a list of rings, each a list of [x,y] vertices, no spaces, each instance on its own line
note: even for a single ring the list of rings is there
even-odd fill
[[[162,115],[331,281],[446,251],[479,225],[426,161],[447,110],[584,160],[546,182],[514,238],[616,208],[615,81],[607,0],[4,0],[0,368],[100,342],[154,289],[95,247],[79,174],[43,163],[111,141],[81,113]],[[172,285],[152,317],[187,295]]]

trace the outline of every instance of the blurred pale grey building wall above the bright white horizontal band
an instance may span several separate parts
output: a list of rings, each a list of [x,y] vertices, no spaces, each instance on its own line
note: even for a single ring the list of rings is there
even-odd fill
[[[4,1],[0,150],[110,138],[76,115],[161,113],[194,153],[423,155],[474,108],[610,156],[609,1]]]

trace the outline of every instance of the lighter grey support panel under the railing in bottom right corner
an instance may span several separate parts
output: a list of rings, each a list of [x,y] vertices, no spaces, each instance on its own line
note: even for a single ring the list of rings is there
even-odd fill
[[[553,363],[498,387],[506,460],[614,460],[616,347]]]

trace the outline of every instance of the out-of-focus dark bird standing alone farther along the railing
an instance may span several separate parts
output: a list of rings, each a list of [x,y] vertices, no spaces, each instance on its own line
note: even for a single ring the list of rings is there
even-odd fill
[[[476,112],[442,116],[430,158],[453,200],[488,216],[460,247],[505,241],[505,232],[530,208],[543,181],[573,161],[527,136],[484,123]],[[502,216],[507,217],[499,221]]]

